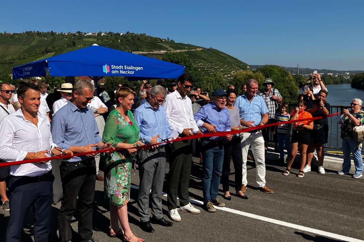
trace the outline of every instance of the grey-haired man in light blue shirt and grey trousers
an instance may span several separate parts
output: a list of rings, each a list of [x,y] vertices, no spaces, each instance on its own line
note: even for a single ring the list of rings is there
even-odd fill
[[[154,86],[148,94],[148,101],[143,103],[134,111],[134,119],[140,128],[139,138],[145,144],[157,144],[162,140],[171,138],[170,128],[166,111],[161,106],[167,96],[166,89],[162,86]],[[153,233],[150,224],[157,223],[162,226],[172,226],[173,223],[165,220],[162,213],[162,189],[166,174],[166,151],[165,145],[154,145],[149,151],[142,149],[137,153],[139,162],[139,193],[138,211],[140,227],[142,230]],[[149,195],[152,193],[152,215],[148,214]]]

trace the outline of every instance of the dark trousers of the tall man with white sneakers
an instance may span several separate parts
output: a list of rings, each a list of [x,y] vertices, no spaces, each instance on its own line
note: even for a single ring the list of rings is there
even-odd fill
[[[168,172],[168,209],[177,208],[177,195],[179,205],[189,203],[188,187],[190,184],[192,166],[191,140],[181,140],[171,145]]]

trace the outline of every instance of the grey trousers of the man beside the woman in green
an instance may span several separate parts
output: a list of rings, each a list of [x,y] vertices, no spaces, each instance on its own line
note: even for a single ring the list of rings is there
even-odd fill
[[[149,221],[149,196],[151,196],[153,217],[155,219],[162,218],[162,190],[166,175],[165,148],[162,145],[156,149],[150,149],[149,152],[139,149],[138,160],[140,179],[138,211],[140,221]]]

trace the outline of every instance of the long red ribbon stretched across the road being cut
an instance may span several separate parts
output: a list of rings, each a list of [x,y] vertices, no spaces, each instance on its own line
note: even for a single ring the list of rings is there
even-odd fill
[[[331,114],[329,116],[327,116],[326,118],[329,118],[331,116],[340,114],[340,112],[337,112],[336,114]],[[299,122],[302,121],[312,121],[312,120],[316,120],[316,119],[323,119],[325,117],[314,117],[314,118],[306,118],[306,119],[299,119]],[[270,123],[270,124],[265,124],[265,125],[258,125],[258,126],[254,126],[252,128],[244,128],[242,130],[232,130],[232,131],[223,131],[223,132],[216,132],[216,133],[201,133],[201,134],[194,134],[194,135],[190,135],[190,136],[185,136],[182,138],[178,138],[178,139],[174,139],[174,140],[167,140],[167,141],[163,141],[161,143],[157,143],[157,144],[147,144],[147,145],[143,145],[143,146],[138,146],[138,147],[131,147],[131,148],[117,148],[115,150],[122,150],[122,149],[143,149],[143,148],[150,148],[154,145],[159,145],[159,144],[165,144],[165,143],[170,143],[170,142],[178,142],[181,140],[186,140],[186,139],[196,139],[196,138],[204,138],[204,137],[216,137],[216,136],[227,136],[227,135],[234,135],[234,134],[240,134],[240,133],[244,133],[244,132],[248,132],[251,130],[259,130],[262,128],[266,128],[266,127],[270,127],[270,126],[275,126],[278,124],[286,124],[286,123],[295,123],[298,120],[289,120],[289,121],[285,121],[285,122],[278,122],[278,123]],[[83,153],[76,153],[74,154],[74,156],[80,156],[80,155],[88,155],[88,154],[96,154],[96,153],[100,153],[100,152],[109,152],[109,151],[114,151],[113,149],[110,148],[105,148],[105,149],[100,149],[98,151],[89,151],[89,152],[83,152]],[[47,161],[47,160],[55,160],[55,159],[68,159],[68,158],[72,158],[71,155],[58,155],[58,156],[52,156],[52,157],[47,157],[47,158],[39,158],[39,159],[31,159],[31,160],[20,160],[20,161],[12,161],[12,162],[4,162],[4,163],[0,163],[0,167],[7,167],[10,165],[21,165],[21,164],[27,164],[27,163],[33,163],[33,162],[39,162],[39,161]]]

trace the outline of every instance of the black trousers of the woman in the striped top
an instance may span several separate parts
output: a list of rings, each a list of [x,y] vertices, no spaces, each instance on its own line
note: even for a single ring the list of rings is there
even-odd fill
[[[224,162],[222,164],[221,183],[224,192],[229,191],[229,175],[230,175],[230,162],[233,158],[235,169],[235,190],[241,190],[243,180],[243,157],[241,153],[241,139],[240,137],[233,137],[232,140],[224,144]]]

